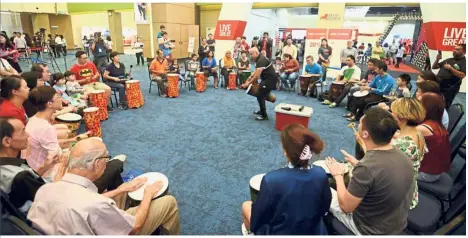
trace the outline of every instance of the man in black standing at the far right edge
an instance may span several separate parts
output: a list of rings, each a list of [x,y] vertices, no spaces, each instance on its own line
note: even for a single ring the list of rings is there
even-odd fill
[[[458,44],[453,50],[453,58],[439,63],[442,55],[438,54],[432,69],[440,69],[437,79],[440,82],[440,91],[445,98],[445,108],[448,110],[453,99],[460,91],[460,85],[466,76],[466,44]]]

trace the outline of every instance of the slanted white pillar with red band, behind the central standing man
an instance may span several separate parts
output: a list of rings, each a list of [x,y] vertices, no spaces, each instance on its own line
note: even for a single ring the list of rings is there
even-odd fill
[[[244,34],[252,5],[253,3],[223,3],[214,34],[217,60],[222,59],[227,50],[232,50],[236,38]]]

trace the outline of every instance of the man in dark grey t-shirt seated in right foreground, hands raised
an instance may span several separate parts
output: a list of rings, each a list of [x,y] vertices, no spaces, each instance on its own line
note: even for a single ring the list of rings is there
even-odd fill
[[[395,235],[406,228],[414,174],[408,156],[390,143],[396,130],[388,111],[376,107],[365,112],[356,137],[367,153],[359,162],[344,153],[354,166],[347,187],[344,164],[327,158],[337,188],[330,212],[356,235]]]

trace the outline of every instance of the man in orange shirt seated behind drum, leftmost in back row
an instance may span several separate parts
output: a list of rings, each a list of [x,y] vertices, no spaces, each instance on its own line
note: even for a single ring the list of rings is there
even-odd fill
[[[151,80],[156,81],[159,90],[161,90],[161,97],[167,97],[167,70],[169,69],[169,63],[164,58],[162,50],[156,51],[156,58],[151,62],[149,70],[151,72]]]

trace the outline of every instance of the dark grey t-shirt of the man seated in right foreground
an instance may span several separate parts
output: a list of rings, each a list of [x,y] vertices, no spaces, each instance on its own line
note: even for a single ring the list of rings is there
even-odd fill
[[[370,150],[354,167],[348,191],[362,198],[353,212],[363,235],[399,234],[406,227],[413,195],[413,167],[398,149]]]

